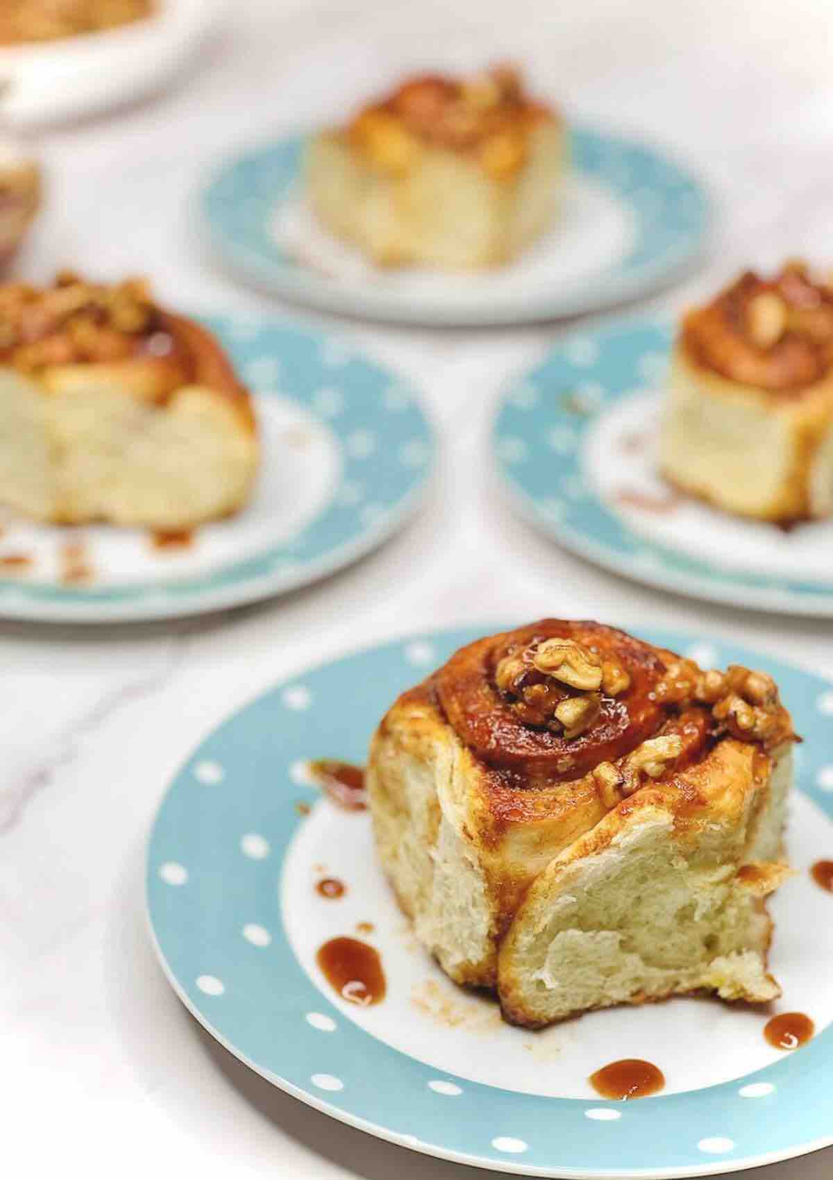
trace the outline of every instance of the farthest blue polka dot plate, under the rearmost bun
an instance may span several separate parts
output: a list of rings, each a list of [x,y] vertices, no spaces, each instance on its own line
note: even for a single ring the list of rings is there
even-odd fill
[[[201,194],[202,221],[241,277],[345,315],[487,324],[610,307],[689,266],[709,225],[708,198],[682,165],[645,144],[575,127],[558,223],[522,257],[477,274],[381,270],[311,216],[303,145],[296,136],[225,163]]]

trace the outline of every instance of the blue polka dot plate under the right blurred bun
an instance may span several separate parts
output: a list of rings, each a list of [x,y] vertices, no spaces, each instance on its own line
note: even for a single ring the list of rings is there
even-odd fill
[[[517,510],[627,577],[734,607],[833,615],[833,522],[789,532],[719,512],[658,476],[673,328],[611,320],[559,341],[506,389],[492,451]]]

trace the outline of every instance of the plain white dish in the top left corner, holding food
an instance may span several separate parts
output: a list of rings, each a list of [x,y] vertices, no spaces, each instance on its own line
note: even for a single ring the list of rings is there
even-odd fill
[[[228,0],[158,0],[147,20],[84,37],[0,47],[0,122],[65,123],[146,98],[192,61]]]

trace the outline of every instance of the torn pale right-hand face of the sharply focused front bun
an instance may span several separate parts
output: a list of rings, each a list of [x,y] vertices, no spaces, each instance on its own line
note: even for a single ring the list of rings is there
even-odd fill
[[[762,894],[788,870],[750,857],[780,846],[789,762],[785,752],[761,814],[750,791],[722,815],[707,805],[687,831],[677,788],[647,787],[557,857],[500,949],[506,1017],[547,1024],[701,990],[723,999],[776,998]]]

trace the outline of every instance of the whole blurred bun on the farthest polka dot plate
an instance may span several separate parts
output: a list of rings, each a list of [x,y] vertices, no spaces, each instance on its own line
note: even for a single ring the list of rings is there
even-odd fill
[[[412,78],[307,153],[315,214],[383,267],[506,262],[556,215],[560,119],[497,67],[468,81]]]

